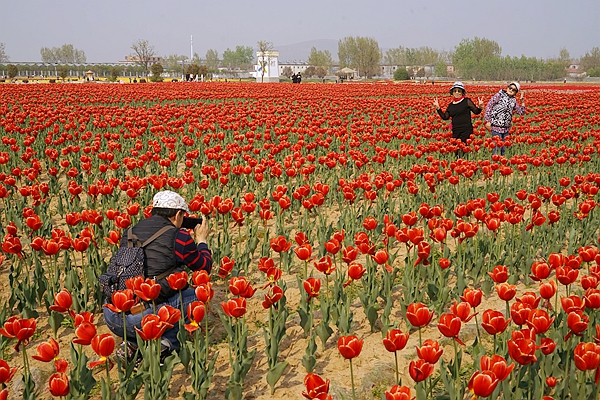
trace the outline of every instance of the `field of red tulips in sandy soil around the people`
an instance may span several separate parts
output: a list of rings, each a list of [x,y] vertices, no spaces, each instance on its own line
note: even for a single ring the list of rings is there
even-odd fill
[[[448,88],[0,85],[0,400],[598,399],[600,86],[523,84],[505,156]],[[166,189],[213,269],[122,360],[102,309],[155,282],[98,277]]]

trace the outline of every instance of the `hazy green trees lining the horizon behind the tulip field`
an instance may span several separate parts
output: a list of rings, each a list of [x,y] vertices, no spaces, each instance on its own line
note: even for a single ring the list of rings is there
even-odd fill
[[[258,42],[272,50],[271,42]],[[264,47],[264,46],[263,46]],[[154,46],[147,40],[139,39],[131,46],[131,59],[138,64],[147,75],[150,65],[155,62]],[[265,47],[267,49],[267,47]],[[263,49],[264,50],[264,49]],[[40,50],[42,62],[49,64],[81,64],[86,62],[83,50],[76,49],[72,44],[61,47],[42,47]],[[388,49],[385,54],[378,42],[369,37],[345,37],[338,42],[338,59],[340,68],[356,69],[360,76],[372,77],[379,74],[380,65],[403,67],[430,66],[429,74],[446,76],[447,66],[454,65],[456,75],[462,79],[523,79],[548,80],[565,76],[565,70],[571,63],[571,57],[566,49],[561,49],[559,56],[553,59],[538,59],[535,57],[502,56],[500,45],[489,39],[475,37],[463,39],[452,51],[439,52],[430,47]],[[4,43],[0,43],[0,63],[6,63],[9,57],[5,52]],[[186,56],[171,54],[164,57],[162,67],[167,71],[182,71],[192,75],[208,75],[219,71],[220,68],[235,74],[247,71],[254,62],[254,49],[250,46],[236,46],[234,50],[227,48],[221,57],[217,50],[209,49],[204,59],[198,54],[190,60]],[[260,60],[259,60],[260,62]],[[263,60],[265,62],[265,60]],[[307,60],[308,76],[323,77],[330,73],[333,58],[328,50],[317,50],[313,47]],[[431,69],[433,66],[433,70]],[[581,71],[588,76],[600,76],[600,48],[594,47],[580,58]],[[264,71],[264,68],[262,69]],[[424,69],[411,70],[413,76],[425,76]],[[285,73],[284,73],[285,74]]]

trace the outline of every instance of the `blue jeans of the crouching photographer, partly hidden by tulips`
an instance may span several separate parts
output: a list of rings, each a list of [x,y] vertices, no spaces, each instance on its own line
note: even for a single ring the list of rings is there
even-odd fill
[[[181,292],[181,295],[183,296],[183,310],[186,314],[185,321],[186,321],[186,323],[189,323],[188,318],[187,318],[187,306],[191,302],[196,301],[198,299],[196,298],[196,292],[194,291],[194,289],[186,289],[183,292]],[[177,293],[175,296],[171,297],[166,302],[157,304],[156,310],[159,310],[164,305],[169,305],[178,310],[181,310],[181,303],[179,302],[179,293]],[[114,333],[115,335],[123,337],[124,336],[123,314],[114,313],[106,307],[103,308],[103,313],[104,313],[104,321],[106,321],[106,326],[108,326],[108,329],[110,329],[110,331],[112,333]],[[148,308],[148,309],[144,310],[143,312],[136,314],[136,315],[127,314],[125,316],[126,324],[127,324],[127,341],[130,342],[135,347],[137,347],[137,339],[136,339],[137,334],[136,334],[136,331],[134,328],[138,328],[141,330],[142,318],[146,314],[153,314],[152,308]],[[161,342],[164,345],[168,346],[171,350],[178,350],[179,349],[179,340],[177,340],[178,332],[179,332],[179,324],[176,323],[175,326],[173,326],[173,328],[167,329],[165,331],[165,333],[162,336]]]

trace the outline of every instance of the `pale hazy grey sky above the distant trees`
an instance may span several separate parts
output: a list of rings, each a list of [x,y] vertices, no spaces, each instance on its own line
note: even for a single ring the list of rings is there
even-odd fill
[[[8,0],[3,0],[8,2]],[[39,61],[41,47],[70,43],[88,62],[116,62],[146,39],[158,55],[220,55],[259,40],[277,46],[367,36],[382,49],[451,50],[464,38],[495,40],[503,55],[573,58],[600,46],[600,0],[26,0],[0,7],[11,61]],[[337,59],[337,54],[333,54]]]

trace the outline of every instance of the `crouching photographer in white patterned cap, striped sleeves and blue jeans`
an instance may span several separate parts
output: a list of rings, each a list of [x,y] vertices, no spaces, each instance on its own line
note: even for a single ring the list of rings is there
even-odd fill
[[[160,294],[155,300],[156,310],[164,305],[182,309],[179,291],[171,289],[166,280],[167,276],[184,271],[185,267],[192,271],[205,270],[208,273],[211,271],[212,255],[206,244],[210,233],[208,222],[203,218],[201,223],[194,224],[200,220],[188,219],[186,215],[189,212],[187,203],[179,194],[169,190],[161,191],[152,200],[152,215],[130,228],[131,231],[128,230],[121,239],[121,248],[128,247],[128,241],[131,248],[132,237],[138,241],[138,247],[143,247],[143,278],[155,279],[160,285]],[[195,225],[192,231],[193,237],[186,229],[181,229],[184,227],[184,217],[188,225],[190,221]],[[181,290],[181,294],[185,310],[188,304],[196,300],[196,295],[187,285]],[[110,298],[105,301],[106,325],[115,335],[124,337],[122,313],[110,304]],[[142,318],[152,313],[154,313],[152,306],[145,302],[139,302],[126,313],[127,343],[117,350],[118,357],[122,359],[127,357],[130,361],[133,359],[137,350],[135,328],[141,330]],[[178,331],[179,325],[174,324],[173,328],[167,329],[161,337],[161,360],[179,349]]]

